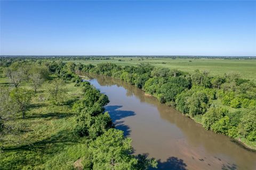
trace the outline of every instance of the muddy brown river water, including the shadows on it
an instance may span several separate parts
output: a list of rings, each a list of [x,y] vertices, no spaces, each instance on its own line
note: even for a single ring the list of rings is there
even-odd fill
[[[121,80],[93,75],[110,100],[117,129],[132,138],[135,154],[158,160],[158,169],[256,169],[256,152],[202,125]]]

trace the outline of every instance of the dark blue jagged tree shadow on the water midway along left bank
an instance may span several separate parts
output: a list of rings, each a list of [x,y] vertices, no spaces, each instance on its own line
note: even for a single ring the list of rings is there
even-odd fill
[[[105,110],[109,113],[111,119],[113,120],[113,123],[115,125],[116,129],[124,131],[124,135],[128,136],[130,135],[130,127],[126,124],[124,124],[124,121],[120,121],[122,118],[134,116],[135,113],[133,111],[121,111],[118,110],[122,106],[106,106]]]

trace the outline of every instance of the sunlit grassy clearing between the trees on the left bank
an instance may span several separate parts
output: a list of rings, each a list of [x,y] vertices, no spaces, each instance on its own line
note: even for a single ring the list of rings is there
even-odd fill
[[[0,81],[1,85],[7,83],[6,79]],[[87,147],[87,139],[77,138],[72,132],[75,119],[71,103],[82,94],[74,84],[66,83],[66,105],[54,106],[47,100],[39,101],[39,96],[46,96],[43,86],[33,98],[25,120],[21,114],[14,115],[9,123],[14,125],[17,135],[6,137],[4,152],[0,154],[1,169],[73,168],[74,162],[82,155],[79,150]],[[22,83],[21,87],[30,88],[30,83]],[[69,158],[65,162],[67,164],[60,165],[60,159],[65,159],[60,155]]]

